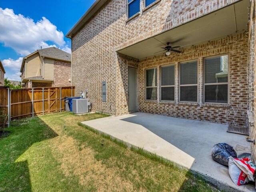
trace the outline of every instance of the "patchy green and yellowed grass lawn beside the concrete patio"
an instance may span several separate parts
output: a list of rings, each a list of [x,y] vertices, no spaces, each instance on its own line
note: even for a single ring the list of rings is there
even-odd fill
[[[214,190],[171,162],[78,125],[105,116],[62,112],[12,122],[0,138],[0,191]]]

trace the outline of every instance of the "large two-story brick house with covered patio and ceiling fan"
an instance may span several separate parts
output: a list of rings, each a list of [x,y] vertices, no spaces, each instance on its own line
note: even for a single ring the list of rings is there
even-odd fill
[[[76,95],[88,90],[94,110],[115,116],[140,111],[250,126],[256,138],[248,120],[256,102],[254,4],[96,0],[66,35]]]

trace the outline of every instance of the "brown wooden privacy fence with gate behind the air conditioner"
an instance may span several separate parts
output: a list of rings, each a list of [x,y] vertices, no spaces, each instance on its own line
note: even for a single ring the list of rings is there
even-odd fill
[[[64,97],[72,97],[74,87],[48,87],[9,90],[0,88],[0,107],[9,120],[65,110]]]

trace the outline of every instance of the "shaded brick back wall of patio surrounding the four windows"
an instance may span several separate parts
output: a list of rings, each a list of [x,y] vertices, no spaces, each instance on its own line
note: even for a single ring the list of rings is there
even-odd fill
[[[230,104],[203,103],[203,58],[230,54]],[[184,54],[155,56],[140,60],[138,64],[139,110],[179,118],[246,126],[248,109],[247,60],[248,34],[228,36],[198,46],[185,48]],[[178,65],[186,60],[198,60],[198,103],[179,101]],[[175,64],[175,101],[160,102],[160,66]],[[145,101],[145,69],[157,67],[158,99]]]

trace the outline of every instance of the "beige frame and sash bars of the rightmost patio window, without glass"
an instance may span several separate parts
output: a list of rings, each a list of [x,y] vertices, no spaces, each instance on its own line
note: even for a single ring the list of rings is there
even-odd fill
[[[214,58],[214,57],[219,57],[219,56],[228,56],[228,82],[223,82],[223,83],[204,83],[205,77],[205,59],[208,58]],[[226,85],[228,84],[228,102],[227,103],[213,103],[213,102],[205,102],[205,85]],[[203,104],[216,104],[216,105],[229,105],[230,104],[230,53],[223,53],[223,54],[217,54],[217,55],[212,55],[208,57],[203,58]]]

